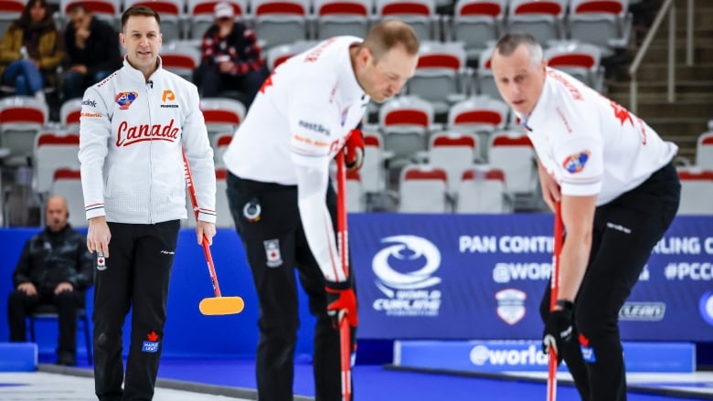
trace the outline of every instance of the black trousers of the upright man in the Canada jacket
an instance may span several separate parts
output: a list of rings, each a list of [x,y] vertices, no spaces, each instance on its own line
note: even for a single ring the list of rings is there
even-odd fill
[[[100,400],[151,400],[164,342],[178,220],[109,223],[110,258],[94,276],[94,389]],[[124,381],[122,325],[133,306]]]

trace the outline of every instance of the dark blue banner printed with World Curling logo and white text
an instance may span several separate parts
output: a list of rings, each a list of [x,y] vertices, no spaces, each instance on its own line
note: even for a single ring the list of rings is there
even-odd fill
[[[354,215],[358,336],[535,339],[548,287],[548,215]],[[713,224],[677,217],[620,312],[626,340],[713,339]]]

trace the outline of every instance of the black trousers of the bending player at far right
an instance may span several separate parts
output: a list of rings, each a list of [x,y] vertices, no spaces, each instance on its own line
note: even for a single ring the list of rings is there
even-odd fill
[[[562,351],[584,401],[626,400],[619,310],[676,216],[680,193],[676,168],[667,164],[596,209],[590,260],[575,300],[575,330]],[[540,314],[547,319],[549,286]]]

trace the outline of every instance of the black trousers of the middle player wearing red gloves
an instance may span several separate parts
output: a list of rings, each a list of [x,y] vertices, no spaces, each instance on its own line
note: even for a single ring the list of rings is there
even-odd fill
[[[293,400],[293,358],[300,325],[297,268],[309,297],[314,327],[314,388],[316,401],[341,399],[339,332],[326,314],[325,277],[304,236],[297,206],[297,187],[259,183],[228,175],[230,212],[248,255],[260,302],[260,342],[256,375],[260,401]],[[259,203],[261,216],[250,221],[243,213]],[[336,196],[329,185],[326,204],[336,224]],[[354,276],[349,274],[350,277]],[[352,332],[352,340],[354,340]]]

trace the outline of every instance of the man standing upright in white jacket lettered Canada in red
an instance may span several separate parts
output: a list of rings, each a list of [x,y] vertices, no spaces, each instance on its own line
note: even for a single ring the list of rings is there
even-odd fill
[[[100,400],[150,400],[187,215],[182,150],[195,179],[198,244],[216,234],[216,174],[196,86],[161,67],[160,17],[126,9],[120,40],[122,69],[85,91],[80,118],[87,248],[97,252],[94,386]],[[124,380],[122,324],[132,308]]]

